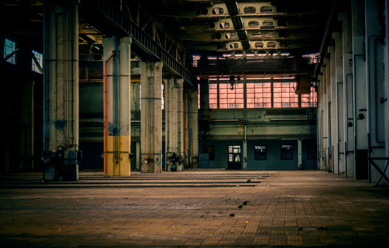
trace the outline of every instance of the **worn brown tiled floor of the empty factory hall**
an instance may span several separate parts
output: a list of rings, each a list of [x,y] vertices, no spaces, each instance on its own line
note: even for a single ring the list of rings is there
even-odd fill
[[[0,246],[389,247],[388,188],[322,171],[80,178],[1,177]]]

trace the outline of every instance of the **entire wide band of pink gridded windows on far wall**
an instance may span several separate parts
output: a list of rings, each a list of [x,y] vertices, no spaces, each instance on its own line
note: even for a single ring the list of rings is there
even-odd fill
[[[296,82],[289,78],[209,81],[209,108],[308,108],[317,107],[314,87],[310,94],[294,93]],[[200,98],[200,94],[198,95]]]

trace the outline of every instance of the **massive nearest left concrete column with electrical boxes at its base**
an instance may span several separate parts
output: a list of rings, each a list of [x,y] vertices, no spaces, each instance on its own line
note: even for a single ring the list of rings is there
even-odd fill
[[[43,150],[79,143],[79,0],[43,2]],[[80,147],[82,150],[82,147]],[[78,165],[64,166],[76,171]],[[58,171],[58,173],[62,173]],[[59,180],[67,180],[62,178]]]

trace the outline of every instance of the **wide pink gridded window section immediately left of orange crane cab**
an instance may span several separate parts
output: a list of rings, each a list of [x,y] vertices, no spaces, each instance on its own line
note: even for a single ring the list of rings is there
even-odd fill
[[[273,102],[275,108],[297,108],[298,95],[294,93],[295,82],[273,83]]]

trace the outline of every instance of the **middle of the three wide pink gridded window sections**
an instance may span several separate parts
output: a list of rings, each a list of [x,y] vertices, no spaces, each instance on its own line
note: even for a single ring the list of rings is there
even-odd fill
[[[247,108],[271,108],[272,107],[271,83],[247,83],[246,98]]]

